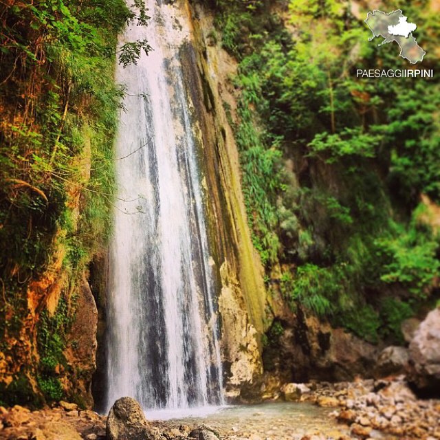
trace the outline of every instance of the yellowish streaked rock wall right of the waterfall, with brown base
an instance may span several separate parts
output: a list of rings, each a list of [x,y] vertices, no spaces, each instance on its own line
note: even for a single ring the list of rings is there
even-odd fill
[[[232,83],[238,63],[223,49],[221,33],[214,35],[212,11],[200,2],[185,7],[193,33],[180,56],[200,129],[210,243],[220,289],[227,396],[241,401],[259,399],[265,393],[265,382],[270,388],[274,381],[371,376],[381,345],[333,329],[301,309],[294,313],[276,289],[267,295],[263,267],[250,236],[231,125],[239,123],[235,109],[240,91]],[[282,334],[274,336],[273,329],[280,323]]]

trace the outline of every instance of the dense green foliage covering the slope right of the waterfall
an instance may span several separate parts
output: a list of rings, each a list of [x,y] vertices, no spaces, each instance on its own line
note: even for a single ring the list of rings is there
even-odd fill
[[[290,1],[291,33],[269,1],[214,3],[223,47],[239,61],[235,137],[266,273],[292,267],[280,289],[293,309],[373,342],[398,338],[399,317],[427,300],[439,274],[438,238],[415,210],[421,193],[440,200],[438,80],[356,78],[355,68],[407,63],[368,41],[349,3]],[[428,3],[390,8],[426,23],[423,68],[439,68]],[[390,292],[401,298],[395,315],[380,301]]]

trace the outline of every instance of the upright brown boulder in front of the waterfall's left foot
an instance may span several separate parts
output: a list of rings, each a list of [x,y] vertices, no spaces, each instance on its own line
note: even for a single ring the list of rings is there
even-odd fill
[[[108,440],[146,440],[152,437],[140,404],[131,397],[115,401],[107,417]]]

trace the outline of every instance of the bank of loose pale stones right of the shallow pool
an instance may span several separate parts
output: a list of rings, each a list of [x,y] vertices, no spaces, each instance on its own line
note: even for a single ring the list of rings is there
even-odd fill
[[[311,384],[313,387],[313,384]],[[295,384],[285,387],[289,395]],[[359,380],[325,384],[314,391],[296,392],[300,401],[335,408],[330,417],[349,426],[351,438],[440,439],[440,400],[417,399],[404,376],[392,380]]]

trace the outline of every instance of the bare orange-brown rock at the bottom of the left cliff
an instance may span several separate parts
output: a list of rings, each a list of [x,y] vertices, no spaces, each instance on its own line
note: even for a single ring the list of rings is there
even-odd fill
[[[86,163],[89,160],[86,159]],[[87,177],[85,166],[85,178]],[[88,170],[89,173],[89,170]],[[74,221],[80,215],[80,193],[69,201]],[[76,220],[75,220],[76,219]],[[58,231],[54,259],[25,292],[25,316],[19,331],[5,329],[0,351],[0,389],[3,403],[39,406],[43,398],[62,397],[91,407],[91,377],[96,369],[98,312],[89,286],[89,272],[72,274],[63,265],[67,249]],[[5,318],[11,322],[10,309]]]

